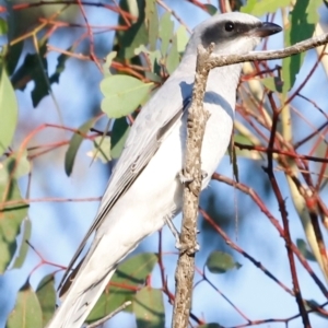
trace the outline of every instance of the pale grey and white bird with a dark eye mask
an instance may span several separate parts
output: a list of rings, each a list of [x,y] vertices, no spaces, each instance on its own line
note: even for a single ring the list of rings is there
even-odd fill
[[[148,235],[181,211],[187,116],[196,73],[197,48],[213,54],[246,54],[262,37],[282,28],[257,17],[215,14],[195,27],[177,69],[142,107],[102,198],[97,214],[60,284],[62,302],[48,328],[80,328],[117,266]],[[209,112],[201,147],[202,189],[223,157],[232,134],[242,63],[214,68],[203,107]],[[86,242],[94,239],[86,255]]]

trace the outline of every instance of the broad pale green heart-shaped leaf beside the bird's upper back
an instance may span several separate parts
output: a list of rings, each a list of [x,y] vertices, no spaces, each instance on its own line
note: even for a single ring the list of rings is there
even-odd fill
[[[129,75],[112,75],[101,82],[105,98],[102,109],[109,118],[120,118],[131,114],[149,94],[153,83],[143,83]]]

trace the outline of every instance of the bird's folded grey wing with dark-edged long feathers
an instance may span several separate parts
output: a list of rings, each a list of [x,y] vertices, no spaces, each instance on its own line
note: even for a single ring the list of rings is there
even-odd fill
[[[192,85],[191,83],[183,83],[180,85],[181,82],[186,82],[186,79],[167,80],[138,115],[121,156],[113,171],[98,213],[59,284],[60,295],[65,294],[69,289],[81,267],[83,259],[72,270],[89,237],[101,226],[115,202],[121,195],[127,192],[142,169],[148,165],[157,151],[164,136],[169,133],[171,128],[180,119],[184,109],[190,103]],[[183,89],[181,91],[179,90],[180,87]]]

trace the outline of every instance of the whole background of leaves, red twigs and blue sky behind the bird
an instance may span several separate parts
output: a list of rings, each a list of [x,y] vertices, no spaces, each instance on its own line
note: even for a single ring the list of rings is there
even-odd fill
[[[321,0],[0,7],[0,325],[49,320],[133,118],[177,67],[191,27],[218,9],[282,25],[262,48],[320,34],[327,20]],[[192,327],[301,327],[307,315],[327,326],[325,51],[244,66],[236,165],[226,156],[202,195]],[[175,262],[164,229],[121,263],[87,323],[130,300],[108,327],[169,326]]]

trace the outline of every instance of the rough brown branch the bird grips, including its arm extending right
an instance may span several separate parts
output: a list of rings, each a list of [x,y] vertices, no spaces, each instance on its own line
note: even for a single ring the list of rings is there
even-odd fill
[[[212,46],[204,49],[198,48],[195,84],[192,89],[192,103],[188,113],[187,143],[184,176],[187,179],[184,186],[183,227],[180,233],[180,251],[175,272],[176,297],[173,311],[173,328],[188,326],[191,308],[192,281],[195,273],[195,253],[197,244],[197,216],[199,195],[201,191],[201,144],[208,119],[208,113],[203,109],[203,95],[209,72],[215,67],[256,60],[272,60],[294,56],[328,43],[328,33],[297,43],[291,47],[271,50],[253,51],[245,55],[213,56]],[[297,291],[300,300],[301,292]],[[304,306],[298,304],[305,326],[308,318]]]

